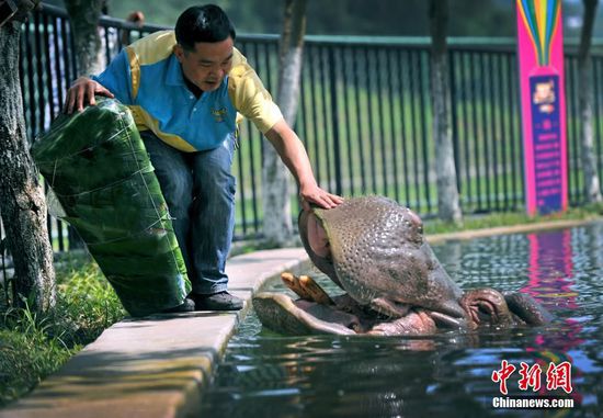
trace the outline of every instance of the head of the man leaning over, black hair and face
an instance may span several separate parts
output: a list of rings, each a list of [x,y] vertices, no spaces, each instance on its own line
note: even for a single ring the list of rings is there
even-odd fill
[[[235,37],[232,23],[217,5],[186,9],[175,24],[174,47],[184,77],[203,91],[216,90],[232,67]]]

